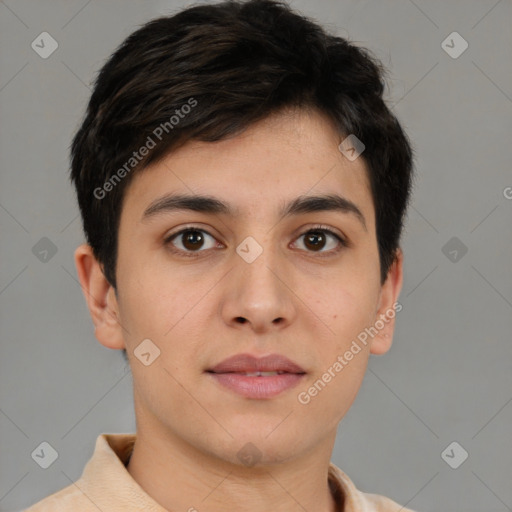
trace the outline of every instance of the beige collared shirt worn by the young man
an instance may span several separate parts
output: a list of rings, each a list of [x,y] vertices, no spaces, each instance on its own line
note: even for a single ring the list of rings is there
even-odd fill
[[[125,467],[135,439],[136,434],[99,435],[82,476],[24,512],[166,512]],[[412,512],[384,496],[358,491],[332,463],[329,485],[339,512]]]

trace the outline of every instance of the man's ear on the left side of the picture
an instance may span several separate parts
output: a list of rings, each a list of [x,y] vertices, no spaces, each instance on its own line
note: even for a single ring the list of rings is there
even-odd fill
[[[115,289],[106,280],[90,245],[82,244],[75,250],[75,265],[96,339],[107,348],[125,348]]]

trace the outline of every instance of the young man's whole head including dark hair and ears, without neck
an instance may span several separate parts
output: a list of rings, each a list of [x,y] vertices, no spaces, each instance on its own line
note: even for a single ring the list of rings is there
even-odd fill
[[[72,144],[75,259],[96,337],[128,351],[152,425],[234,462],[249,441],[277,461],[335,430],[369,354],[391,345],[402,283],[412,150],[383,91],[368,50],[271,0],[155,19],[103,66]],[[349,136],[356,159],[339,149]],[[148,339],[160,355],[146,366]],[[208,373],[238,353],[305,375],[240,397]],[[266,437],[284,408],[293,419]]]

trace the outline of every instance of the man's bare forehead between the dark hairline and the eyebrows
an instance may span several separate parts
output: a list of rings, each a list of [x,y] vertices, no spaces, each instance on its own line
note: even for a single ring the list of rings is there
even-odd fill
[[[123,210],[140,220],[155,199],[180,193],[217,197],[238,217],[276,216],[299,196],[336,194],[357,204],[369,222],[366,165],[340,152],[343,138],[321,114],[295,111],[218,142],[189,141],[133,177]]]

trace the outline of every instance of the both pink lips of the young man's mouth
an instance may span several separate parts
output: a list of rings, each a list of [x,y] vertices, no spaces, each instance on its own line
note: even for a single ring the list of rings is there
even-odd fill
[[[248,376],[244,373],[283,372],[278,375]],[[207,370],[207,373],[223,387],[246,398],[268,399],[295,387],[306,372],[285,356],[271,354],[255,357],[238,354],[225,359]]]

